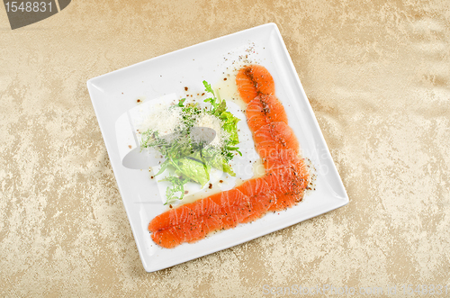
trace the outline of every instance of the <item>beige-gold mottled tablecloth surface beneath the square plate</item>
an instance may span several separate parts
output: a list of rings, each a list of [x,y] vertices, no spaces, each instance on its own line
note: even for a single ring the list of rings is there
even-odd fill
[[[73,1],[14,31],[0,8],[0,296],[450,285],[450,2],[130,3]],[[350,203],[147,274],[85,82],[269,22]]]

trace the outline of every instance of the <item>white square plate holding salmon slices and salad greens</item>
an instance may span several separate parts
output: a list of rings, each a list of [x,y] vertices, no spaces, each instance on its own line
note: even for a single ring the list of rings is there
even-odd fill
[[[289,125],[301,144],[302,155],[309,158],[316,168],[316,190],[306,194],[302,203],[295,207],[284,212],[269,213],[252,224],[240,224],[235,229],[221,231],[193,244],[186,243],[172,249],[160,248],[150,237],[148,223],[166,211],[167,207],[161,203],[157,184],[149,178],[148,171],[122,166],[115,122],[122,113],[136,106],[138,98],[146,101],[172,93],[179,97],[191,93],[185,92],[184,86],[189,86],[193,93],[202,92],[203,79],[214,86],[223,81],[233,71],[232,68],[247,60],[265,66],[274,77],[276,95],[284,104]],[[229,83],[234,82],[230,79]],[[87,82],[87,88],[139,255],[148,272],[230,248],[348,203],[344,185],[274,23],[206,41],[94,77]],[[247,124],[244,121],[240,125]]]

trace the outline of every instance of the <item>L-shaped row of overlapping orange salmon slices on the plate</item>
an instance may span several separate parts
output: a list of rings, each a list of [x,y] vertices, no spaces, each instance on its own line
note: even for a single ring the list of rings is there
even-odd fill
[[[163,248],[195,242],[212,231],[232,229],[302,201],[309,172],[284,106],[275,96],[273,77],[266,68],[250,65],[238,71],[236,84],[247,104],[247,124],[266,175],[157,215],[148,230]]]

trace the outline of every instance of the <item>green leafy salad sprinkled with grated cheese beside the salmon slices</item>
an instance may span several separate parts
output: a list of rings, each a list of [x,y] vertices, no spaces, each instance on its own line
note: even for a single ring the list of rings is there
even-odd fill
[[[205,91],[211,97],[204,100],[211,107],[201,107],[200,104],[184,104],[185,98],[169,109],[181,109],[181,122],[175,129],[175,133],[169,136],[161,135],[160,131],[144,131],[141,133],[141,149],[154,148],[159,150],[166,160],[160,165],[156,176],[166,169],[171,176],[160,181],[171,183],[166,189],[166,203],[176,199],[183,199],[184,185],[194,182],[206,185],[210,181],[211,168],[219,169],[230,176],[236,176],[229,166],[229,160],[238,153],[238,121],[232,113],[227,111],[227,103],[216,97],[211,85],[203,81]],[[196,140],[196,128],[199,119],[211,115],[220,121],[221,131],[215,131],[215,138],[220,138],[215,144],[206,140]],[[197,138],[198,139],[198,138]]]

